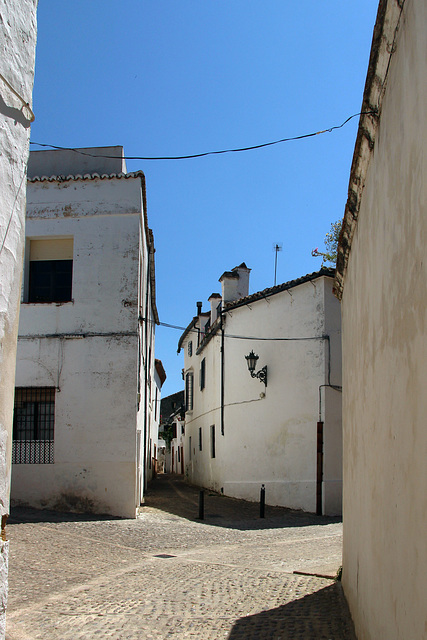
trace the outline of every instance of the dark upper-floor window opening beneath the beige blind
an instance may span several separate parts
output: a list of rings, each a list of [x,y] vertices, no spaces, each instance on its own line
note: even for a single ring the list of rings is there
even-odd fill
[[[28,302],[70,302],[72,280],[72,260],[31,261]]]

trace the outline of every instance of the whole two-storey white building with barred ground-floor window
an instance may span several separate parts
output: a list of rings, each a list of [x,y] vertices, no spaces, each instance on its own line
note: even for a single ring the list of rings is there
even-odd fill
[[[107,156],[107,157],[104,157]],[[154,245],[122,147],[30,154],[12,500],[135,517],[152,464]]]

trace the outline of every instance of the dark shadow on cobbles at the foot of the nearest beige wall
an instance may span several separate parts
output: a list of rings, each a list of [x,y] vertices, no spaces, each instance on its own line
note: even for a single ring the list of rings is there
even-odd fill
[[[228,640],[356,640],[339,583],[238,620]]]

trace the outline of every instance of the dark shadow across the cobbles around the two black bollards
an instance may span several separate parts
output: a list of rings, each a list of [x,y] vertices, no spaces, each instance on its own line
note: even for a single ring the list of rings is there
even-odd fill
[[[153,480],[145,497],[145,505],[161,511],[215,527],[240,530],[305,527],[341,522],[339,517],[316,516],[284,507],[265,507],[260,518],[259,504],[229,498],[206,489],[204,519],[199,520],[200,487],[189,485],[183,476],[159,475]]]

